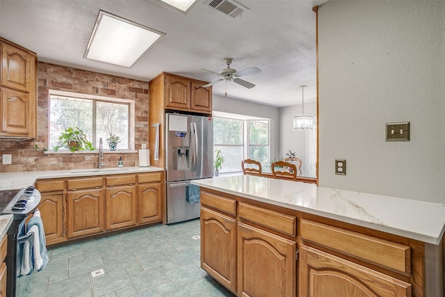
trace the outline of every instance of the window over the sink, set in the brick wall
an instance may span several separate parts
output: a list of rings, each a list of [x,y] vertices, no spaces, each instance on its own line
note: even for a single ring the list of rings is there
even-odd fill
[[[48,147],[66,128],[79,127],[95,147],[113,133],[120,138],[118,150],[134,150],[134,113],[133,100],[50,90]]]

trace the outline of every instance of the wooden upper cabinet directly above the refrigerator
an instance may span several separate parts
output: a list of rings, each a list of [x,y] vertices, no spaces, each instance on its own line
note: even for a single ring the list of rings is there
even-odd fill
[[[162,81],[162,83],[160,83]],[[211,87],[206,81],[163,72],[149,81],[150,108],[211,114]],[[162,101],[162,104],[159,104]]]

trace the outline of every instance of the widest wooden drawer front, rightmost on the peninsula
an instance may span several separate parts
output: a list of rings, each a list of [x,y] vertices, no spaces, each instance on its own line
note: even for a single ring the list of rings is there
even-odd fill
[[[305,219],[300,222],[300,232],[304,241],[312,241],[406,275],[411,272],[409,246]]]

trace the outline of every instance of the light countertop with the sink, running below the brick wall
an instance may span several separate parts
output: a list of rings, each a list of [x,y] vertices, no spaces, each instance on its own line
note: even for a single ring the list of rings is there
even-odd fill
[[[0,191],[20,189],[34,184],[36,179],[59,178],[59,177],[83,177],[95,175],[118,175],[123,173],[140,173],[163,171],[163,168],[148,167],[111,167],[104,169],[73,169],[52,171],[29,171],[29,172],[4,172],[0,173]]]

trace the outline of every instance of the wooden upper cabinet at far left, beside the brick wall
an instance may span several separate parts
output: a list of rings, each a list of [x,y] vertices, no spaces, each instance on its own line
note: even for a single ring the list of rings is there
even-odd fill
[[[0,38],[0,136],[37,134],[37,56]]]

